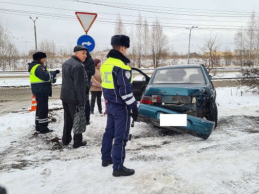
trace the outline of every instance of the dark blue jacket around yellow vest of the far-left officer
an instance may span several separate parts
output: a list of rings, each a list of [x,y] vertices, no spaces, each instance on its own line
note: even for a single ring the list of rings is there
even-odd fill
[[[38,61],[32,61],[31,63],[28,63],[28,72],[31,71],[33,66],[38,64],[40,64]],[[46,68],[47,67],[45,65],[39,65],[38,67],[36,67],[34,72],[35,76],[44,81],[52,80],[53,77],[57,76],[57,73],[55,73],[55,71],[50,71],[49,74]],[[31,92],[35,96],[35,98],[42,96],[51,96],[51,82],[31,84]]]

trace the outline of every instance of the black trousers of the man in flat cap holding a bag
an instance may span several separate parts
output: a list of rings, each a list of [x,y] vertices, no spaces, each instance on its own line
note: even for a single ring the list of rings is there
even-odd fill
[[[67,103],[62,101],[64,108],[64,127],[63,127],[63,137],[62,142],[64,145],[68,145],[71,140],[71,131],[73,127],[73,120],[75,118],[77,104]],[[73,135],[73,145],[80,146],[82,144],[83,135],[82,133]]]

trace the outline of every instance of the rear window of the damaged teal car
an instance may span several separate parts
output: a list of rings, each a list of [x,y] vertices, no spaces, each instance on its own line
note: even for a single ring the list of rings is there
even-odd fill
[[[200,68],[159,69],[154,76],[153,84],[205,84]]]

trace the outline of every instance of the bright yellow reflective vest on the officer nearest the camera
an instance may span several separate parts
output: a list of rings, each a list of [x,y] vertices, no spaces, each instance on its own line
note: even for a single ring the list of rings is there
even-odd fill
[[[113,68],[117,66],[119,68],[131,71],[131,67],[125,65],[121,60],[109,57],[101,66],[101,78],[102,78],[102,87],[106,89],[114,89],[113,82]],[[133,77],[131,79],[131,83]]]

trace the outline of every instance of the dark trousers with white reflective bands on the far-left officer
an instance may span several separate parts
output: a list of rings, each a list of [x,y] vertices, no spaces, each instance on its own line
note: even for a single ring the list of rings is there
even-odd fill
[[[36,97],[35,98],[36,113],[35,113],[35,128],[41,133],[45,133],[49,130],[48,128],[48,96]]]

